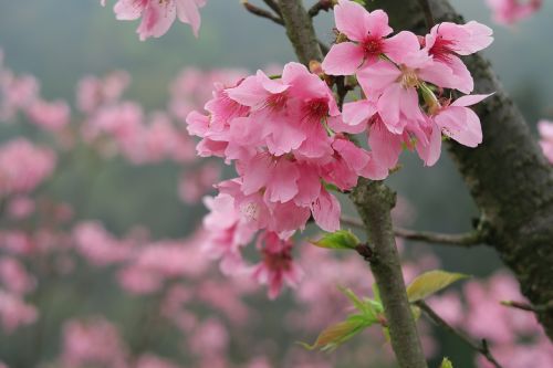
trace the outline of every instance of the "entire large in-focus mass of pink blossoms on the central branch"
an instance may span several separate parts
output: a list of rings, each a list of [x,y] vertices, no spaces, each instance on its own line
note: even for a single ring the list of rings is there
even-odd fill
[[[382,180],[401,150],[416,149],[427,166],[441,151],[442,135],[476,147],[482,141],[469,106],[473,80],[460,59],[487,48],[492,31],[478,22],[434,27],[425,38],[393,34],[387,14],[341,0],[334,7],[337,41],[313,73],[289,63],[281,75],[262,71],[231,85],[216,84],[207,114],[191,112],[188,132],[201,138],[201,157],[233,164],[238,177],[220,182],[205,220],[207,248],[230,273],[243,269],[241,251],[253,241],[264,270],[254,272],[276,295],[301,272],[290,238],[310,219],[323,230],[340,229],[341,204],[331,190],[348,191],[359,177]],[[331,86],[352,77],[361,98],[340,108]],[[457,99],[448,91],[468,94]],[[457,93],[456,92],[456,93]],[[351,139],[365,133],[368,149]]]

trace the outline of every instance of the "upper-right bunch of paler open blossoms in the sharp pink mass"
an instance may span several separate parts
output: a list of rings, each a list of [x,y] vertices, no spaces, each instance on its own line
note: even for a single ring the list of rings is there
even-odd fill
[[[468,147],[482,141],[480,119],[469,106],[488,95],[453,99],[445,90],[473,91],[460,56],[487,48],[493,41],[490,28],[476,21],[444,22],[424,38],[408,31],[392,35],[382,10],[367,12],[341,0],[334,13],[341,42],[322,67],[330,75],[355,75],[362,86],[363,98],[344,105],[344,123],[352,133],[368,130],[378,164],[393,168],[405,146],[431,166],[440,156],[442,135]]]

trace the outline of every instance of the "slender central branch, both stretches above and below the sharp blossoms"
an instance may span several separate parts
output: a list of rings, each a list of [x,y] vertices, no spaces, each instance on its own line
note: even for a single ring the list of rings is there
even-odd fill
[[[280,0],[280,6],[286,33],[298,59],[305,65],[312,60],[321,61],[323,55],[302,0]],[[398,365],[401,368],[427,368],[407,298],[392,224],[390,211],[395,206],[395,193],[382,182],[359,180],[352,192],[352,200],[367,227],[374,249],[371,269],[380,290],[390,343]]]

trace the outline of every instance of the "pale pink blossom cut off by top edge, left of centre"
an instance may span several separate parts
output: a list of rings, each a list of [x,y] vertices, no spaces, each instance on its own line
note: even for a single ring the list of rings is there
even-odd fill
[[[118,0],[114,6],[118,20],[136,20],[142,18],[136,30],[142,41],[148,38],[159,38],[171,27],[178,18],[182,23],[192,28],[198,36],[200,28],[199,8],[207,0]],[[105,3],[102,2],[104,6]]]

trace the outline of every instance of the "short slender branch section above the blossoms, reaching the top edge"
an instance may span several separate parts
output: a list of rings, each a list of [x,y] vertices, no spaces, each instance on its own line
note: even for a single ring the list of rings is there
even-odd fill
[[[311,17],[305,11],[302,0],[280,0],[280,7],[288,38],[300,62],[309,65],[312,60],[322,61],[323,53],[319,46]]]

